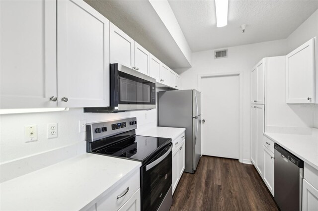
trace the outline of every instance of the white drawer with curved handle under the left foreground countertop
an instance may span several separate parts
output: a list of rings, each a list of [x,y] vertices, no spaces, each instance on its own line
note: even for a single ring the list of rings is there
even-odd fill
[[[117,196],[123,195],[127,188],[128,192],[121,198]],[[96,211],[117,211],[123,206],[128,199],[140,188],[140,172],[136,170],[129,179],[115,187],[109,194],[96,203]]]

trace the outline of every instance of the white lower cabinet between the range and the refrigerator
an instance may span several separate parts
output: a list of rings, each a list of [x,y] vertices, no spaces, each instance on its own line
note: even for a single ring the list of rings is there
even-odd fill
[[[185,168],[184,133],[172,140],[172,194],[174,193]]]

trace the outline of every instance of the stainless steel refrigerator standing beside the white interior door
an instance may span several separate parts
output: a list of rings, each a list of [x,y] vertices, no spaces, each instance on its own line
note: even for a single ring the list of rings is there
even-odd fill
[[[158,93],[158,126],[185,128],[185,172],[194,173],[201,158],[201,96],[197,90]]]

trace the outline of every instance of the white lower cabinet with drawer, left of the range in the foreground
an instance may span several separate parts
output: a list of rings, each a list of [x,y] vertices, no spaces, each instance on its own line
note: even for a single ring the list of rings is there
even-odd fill
[[[140,210],[139,169],[96,203],[96,211],[135,211],[134,208]]]

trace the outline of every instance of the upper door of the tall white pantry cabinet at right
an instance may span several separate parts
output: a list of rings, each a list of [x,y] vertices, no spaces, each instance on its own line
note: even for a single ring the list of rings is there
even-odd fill
[[[251,72],[251,103],[265,103],[265,59],[263,58]]]

